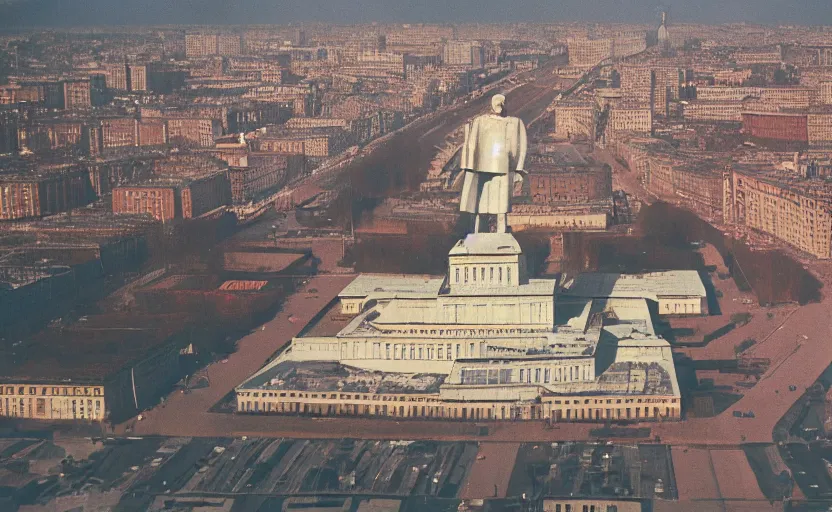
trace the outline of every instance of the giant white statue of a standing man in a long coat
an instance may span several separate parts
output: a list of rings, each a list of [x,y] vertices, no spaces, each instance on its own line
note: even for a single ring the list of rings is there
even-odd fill
[[[475,233],[480,231],[483,214],[496,214],[497,232],[506,233],[514,183],[526,174],[526,127],[519,118],[508,117],[505,96],[495,94],[491,113],[465,127],[461,156],[465,180],[460,211],[474,214]]]

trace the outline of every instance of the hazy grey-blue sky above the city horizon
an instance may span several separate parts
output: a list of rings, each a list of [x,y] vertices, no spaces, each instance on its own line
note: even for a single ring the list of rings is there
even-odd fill
[[[325,21],[652,22],[832,25],[832,0],[0,0],[0,26]]]

